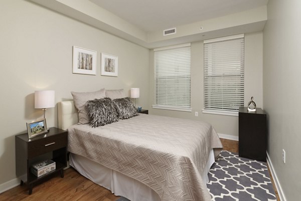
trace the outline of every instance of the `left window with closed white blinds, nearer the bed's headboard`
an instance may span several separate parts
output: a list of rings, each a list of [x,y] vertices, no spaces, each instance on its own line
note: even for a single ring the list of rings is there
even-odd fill
[[[153,108],[191,111],[190,43],[154,49],[155,104]]]

